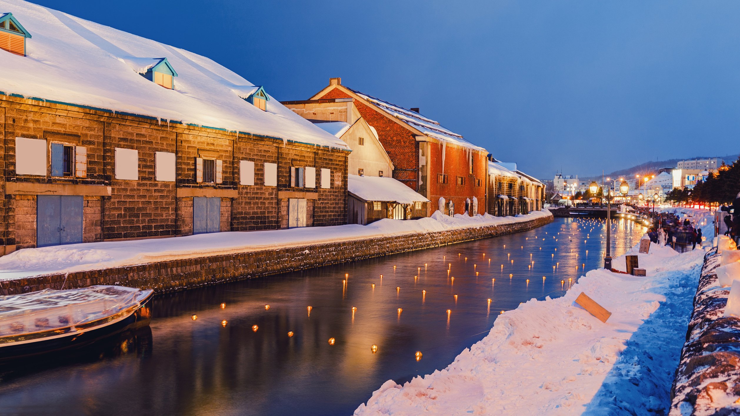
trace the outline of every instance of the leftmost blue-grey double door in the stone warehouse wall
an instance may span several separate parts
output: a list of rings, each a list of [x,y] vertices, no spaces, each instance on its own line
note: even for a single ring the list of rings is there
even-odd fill
[[[36,247],[82,242],[82,197],[36,197]]]

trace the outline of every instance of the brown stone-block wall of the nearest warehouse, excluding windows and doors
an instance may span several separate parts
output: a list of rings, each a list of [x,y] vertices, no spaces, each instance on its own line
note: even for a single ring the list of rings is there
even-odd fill
[[[52,177],[48,160],[45,176],[17,175],[16,137],[86,146],[87,176]],[[138,151],[138,180],[115,178],[115,148]],[[157,151],[176,154],[175,182],[156,180]],[[84,242],[188,235],[193,196],[221,197],[221,231],[279,228],[279,187],[264,185],[265,162],[278,163],[278,185],[283,187],[289,184],[294,160],[315,166],[317,174],[331,168],[336,185],[320,189],[317,179],[312,191],[320,203],[311,223],[343,224],[347,155],[252,134],[0,95],[0,256],[36,246],[36,194],[82,195]],[[196,157],[222,160],[223,182],[198,183]],[[240,185],[240,160],[255,163],[255,185]],[[13,194],[8,194],[8,183],[15,186]],[[31,184],[35,187],[28,191]],[[59,191],[61,185],[64,191]]]

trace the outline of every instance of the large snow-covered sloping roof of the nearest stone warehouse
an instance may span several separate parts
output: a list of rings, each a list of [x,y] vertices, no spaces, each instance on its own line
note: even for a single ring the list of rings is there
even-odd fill
[[[246,102],[240,92],[255,86],[209,58],[26,1],[0,10],[33,33],[27,56],[3,55],[0,94],[349,149],[277,100],[267,111]],[[177,70],[175,89],[140,75],[154,58]]]

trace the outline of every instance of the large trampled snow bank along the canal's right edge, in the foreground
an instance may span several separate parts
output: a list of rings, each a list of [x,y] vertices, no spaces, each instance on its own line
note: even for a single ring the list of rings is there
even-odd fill
[[[565,296],[499,316],[447,368],[403,386],[383,383],[354,415],[665,411],[702,255],[653,245],[638,254],[647,277],[591,270]],[[624,270],[624,257],[614,264]],[[610,310],[607,324],[573,303],[581,292]]]

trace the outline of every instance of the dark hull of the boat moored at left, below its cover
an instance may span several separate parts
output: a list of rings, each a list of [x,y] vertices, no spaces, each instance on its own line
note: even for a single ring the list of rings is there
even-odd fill
[[[84,330],[70,331],[61,335],[38,338],[22,343],[4,344],[0,346],[0,362],[59,352],[64,349],[81,348],[125,330],[145,327],[149,325],[152,318],[151,301],[152,295],[150,294],[147,299],[141,302],[139,307],[126,316]]]

